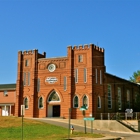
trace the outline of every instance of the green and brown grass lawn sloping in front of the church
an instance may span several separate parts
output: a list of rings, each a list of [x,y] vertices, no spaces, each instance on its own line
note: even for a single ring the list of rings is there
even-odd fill
[[[100,134],[84,134],[74,131],[71,137],[103,137]],[[24,119],[23,139],[24,140],[63,140],[68,138],[68,129],[50,125],[47,123]],[[22,118],[0,117],[0,139],[20,140],[22,139]]]

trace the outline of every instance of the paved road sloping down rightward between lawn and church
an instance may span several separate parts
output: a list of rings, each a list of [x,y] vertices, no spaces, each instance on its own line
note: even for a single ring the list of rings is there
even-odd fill
[[[57,125],[57,126],[62,126],[64,128],[69,128],[68,122],[61,122],[61,121],[59,122],[59,120],[57,121],[57,119],[41,119],[41,118],[33,118],[33,119],[41,121],[41,122]],[[75,130],[85,132],[84,126],[79,126],[77,124],[72,124],[72,125],[74,126]],[[87,127],[86,131],[90,133],[91,128]],[[108,136],[122,137],[125,140],[140,140],[140,133],[138,132],[125,133],[125,132],[93,130],[93,133],[100,133],[100,134],[108,135]]]

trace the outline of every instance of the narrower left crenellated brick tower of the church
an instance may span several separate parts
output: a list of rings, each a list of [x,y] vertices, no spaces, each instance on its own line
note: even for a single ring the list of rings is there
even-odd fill
[[[16,82],[15,115],[21,116],[21,105],[27,99],[26,116],[33,117],[34,98],[37,93],[38,59],[45,58],[46,53],[39,54],[38,50],[19,51]]]

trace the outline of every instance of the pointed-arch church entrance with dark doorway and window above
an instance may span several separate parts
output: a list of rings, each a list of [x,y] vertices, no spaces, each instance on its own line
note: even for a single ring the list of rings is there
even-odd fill
[[[53,90],[47,99],[47,117],[60,117],[60,97],[59,94]]]

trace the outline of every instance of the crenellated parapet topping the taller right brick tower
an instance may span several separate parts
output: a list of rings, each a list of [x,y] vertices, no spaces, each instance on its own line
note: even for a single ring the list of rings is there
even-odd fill
[[[104,49],[103,48],[100,48],[94,44],[85,44],[85,45],[74,45],[73,47],[71,45],[68,46],[68,48],[71,48],[72,50],[74,51],[79,51],[79,50],[89,50],[91,48],[93,48],[93,50],[97,50],[99,52],[104,52]]]

